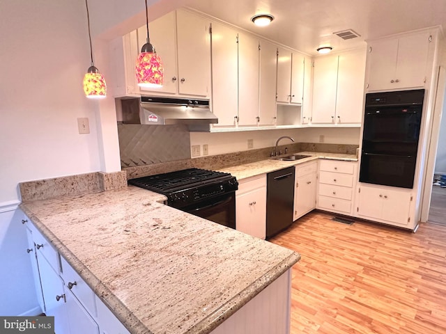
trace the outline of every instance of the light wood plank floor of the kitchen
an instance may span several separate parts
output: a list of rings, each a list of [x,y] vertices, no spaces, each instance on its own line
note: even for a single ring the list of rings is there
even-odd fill
[[[296,250],[291,333],[446,333],[446,226],[416,233],[312,212],[271,239]]]

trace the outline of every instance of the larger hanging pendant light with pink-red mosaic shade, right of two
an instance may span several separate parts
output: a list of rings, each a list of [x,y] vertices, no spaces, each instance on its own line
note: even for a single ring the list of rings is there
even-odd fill
[[[141,47],[141,54],[137,58],[136,74],[138,86],[144,88],[161,88],[164,81],[164,67],[155,47],[151,45],[148,35],[148,10],[146,0],[147,42]]]

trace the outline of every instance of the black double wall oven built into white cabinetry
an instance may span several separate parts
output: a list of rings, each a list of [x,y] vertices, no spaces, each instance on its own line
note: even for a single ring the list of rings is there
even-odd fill
[[[413,188],[424,89],[366,94],[360,182]]]

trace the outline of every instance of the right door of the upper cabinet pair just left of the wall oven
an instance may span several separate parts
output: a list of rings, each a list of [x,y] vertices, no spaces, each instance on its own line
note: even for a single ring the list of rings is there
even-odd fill
[[[364,101],[366,50],[339,54],[337,73],[336,122],[360,123]]]

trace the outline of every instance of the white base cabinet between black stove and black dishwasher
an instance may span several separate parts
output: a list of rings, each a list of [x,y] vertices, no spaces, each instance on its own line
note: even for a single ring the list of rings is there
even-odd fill
[[[266,238],[266,175],[240,180],[236,191],[236,230]]]

